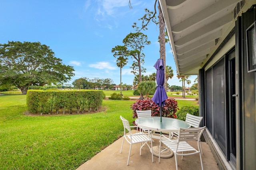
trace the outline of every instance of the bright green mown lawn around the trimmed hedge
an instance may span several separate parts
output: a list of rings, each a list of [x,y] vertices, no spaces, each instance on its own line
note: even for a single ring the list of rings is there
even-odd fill
[[[76,169],[123,133],[120,115],[134,121],[135,101],[104,100],[106,111],[27,116],[26,96],[0,96],[0,169]],[[178,106],[196,101],[178,100]]]

